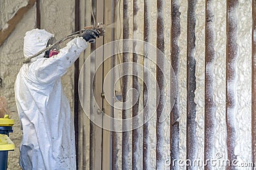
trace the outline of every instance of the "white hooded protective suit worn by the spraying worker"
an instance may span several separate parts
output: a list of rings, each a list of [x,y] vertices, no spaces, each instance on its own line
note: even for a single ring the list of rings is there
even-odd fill
[[[24,57],[45,48],[52,36],[44,29],[26,32]],[[74,38],[57,55],[47,59],[43,53],[20,68],[15,99],[23,130],[22,169],[76,169],[74,121],[61,76],[86,47],[83,38]]]

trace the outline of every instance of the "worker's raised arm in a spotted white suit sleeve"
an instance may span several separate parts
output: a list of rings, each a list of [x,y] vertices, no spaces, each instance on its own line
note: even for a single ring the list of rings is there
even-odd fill
[[[49,84],[60,79],[86,47],[87,43],[83,37],[74,38],[67,43],[65,48],[61,48],[60,53],[57,55],[49,59],[40,59],[42,63],[33,62],[31,70],[35,71],[34,74],[37,81]]]

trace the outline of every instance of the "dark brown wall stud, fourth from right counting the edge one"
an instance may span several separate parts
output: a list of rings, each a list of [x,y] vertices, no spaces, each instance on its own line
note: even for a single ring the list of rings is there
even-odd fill
[[[196,0],[188,1],[188,28],[187,28],[187,159],[195,160],[196,157],[196,104],[195,90],[196,90],[196,60],[195,52],[195,8]],[[188,169],[193,169],[189,166]]]

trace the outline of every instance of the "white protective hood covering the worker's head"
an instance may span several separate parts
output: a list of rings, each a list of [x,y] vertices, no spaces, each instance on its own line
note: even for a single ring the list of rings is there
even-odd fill
[[[44,49],[47,45],[48,40],[54,36],[44,29],[32,29],[31,31],[26,32],[24,37],[24,48],[23,53],[24,57],[28,58],[40,50]],[[44,57],[44,53],[38,55],[36,59]]]

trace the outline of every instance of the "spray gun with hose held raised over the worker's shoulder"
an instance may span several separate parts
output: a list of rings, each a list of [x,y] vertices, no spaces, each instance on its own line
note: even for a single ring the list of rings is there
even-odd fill
[[[35,53],[31,57],[28,57],[28,59],[24,60],[23,63],[25,64],[25,63],[30,62],[31,59],[35,58],[36,56],[40,55],[41,53],[46,52],[47,50],[50,50],[52,48],[52,46],[60,45],[61,43],[63,43],[67,39],[73,39],[73,38],[76,38],[78,36],[81,36],[83,34],[83,32],[86,31],[86,29],[95,29],[95,30],[99,31],[100,36],[105,35],[105,25],[102,24],[102,23],[98,23],[97,26],[91,25],[91,26],[88,26],[88,27],[84,27],[80,31],[73,32],[72,34],[66,36],[65,38],[62,38],[59,41],[56,41],[56,43],[53,43],[52,45],[47,46],[43,50],[40,50],[39,52]],[[95,39],[89,39],[88,43],[95,43]]]

